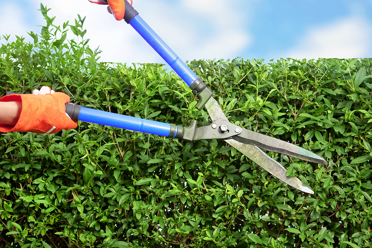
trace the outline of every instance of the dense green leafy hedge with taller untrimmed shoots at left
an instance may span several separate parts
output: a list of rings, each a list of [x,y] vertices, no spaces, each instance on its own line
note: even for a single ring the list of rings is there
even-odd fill
[[[0,94],[42,85],[82,106],[209,124],[162,65],[97,62],[78,18],[0,49]],[[74,40],[66,40],[71,29]],[[371,59],[190,62],[228,119],[329,165],[267,154],[302,193],[224,141],[185,142],[79,122],[0,137],[0,247],[371,247]]]

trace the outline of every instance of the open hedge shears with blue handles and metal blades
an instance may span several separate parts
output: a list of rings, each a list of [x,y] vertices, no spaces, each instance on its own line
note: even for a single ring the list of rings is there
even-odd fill
[[[323,158],[297,145],[253,132],[231,123],[225,116],[218,102],[213,98],[212,91],[205,86],[201,78],[199,78],[185,62],[165,44],[154,30],[138,15],[137,10],[127,1],[125,1],[124,20],[150,44],[177,75],[182,78],[187,86],[190,87],[192,93],[197,96],[199,100],[195,107],[199,110],[205,107],[211,117],[212,123],[208,126],[198,127],[198,122],[196,120],[191,120],[189,126],[183,126],[125,116],[86,108],[73,103],[66,103],[66,113],[71,119],[167,136],[170,138],[179,138],[185,141],[222,139],[286,184],[306,193],[314,193],[314,191],[304,185],[298,178],[294,176],[287,177],[287,170],[277,161],[265,154],[260,148],[286,154],[301,160],[327,165],[327,162]]]

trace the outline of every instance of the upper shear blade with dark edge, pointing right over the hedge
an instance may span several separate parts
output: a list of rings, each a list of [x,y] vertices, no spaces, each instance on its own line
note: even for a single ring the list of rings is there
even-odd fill
[[[301,160],[327,165],[327,161],[317,154],[308,151],[298,145],[276,139],[262,133],[253,132],[243,128],[239,135],[232,137],[238,142],[258,146],[267,151],[279,152]]]

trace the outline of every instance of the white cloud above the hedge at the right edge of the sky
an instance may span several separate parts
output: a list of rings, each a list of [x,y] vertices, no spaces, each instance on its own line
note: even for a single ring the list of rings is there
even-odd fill
[[[277,57],[361,58],[371,51],[371,32],[371,25],[362,18],[347,17],[308,30],[293,49]]]

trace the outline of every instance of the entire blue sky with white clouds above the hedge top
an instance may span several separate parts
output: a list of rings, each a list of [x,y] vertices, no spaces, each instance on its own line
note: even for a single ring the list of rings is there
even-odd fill
[[[184,61],[193,59],[372,58],[372,0],[133,0],[142,19]],[[102,62],[163,59],[103,5],[88,0],[0,0],[0,35],[31,37],[45,25],[40,3],[55,25],[77,14]],[[70,35],[73,38],[73,35]],[[3,43],[4,39],[0,40]]]

